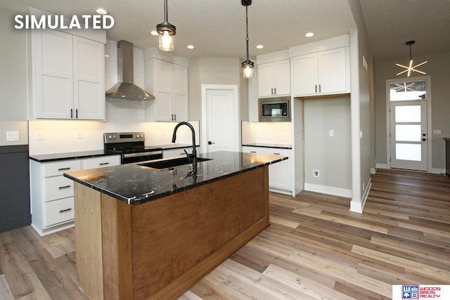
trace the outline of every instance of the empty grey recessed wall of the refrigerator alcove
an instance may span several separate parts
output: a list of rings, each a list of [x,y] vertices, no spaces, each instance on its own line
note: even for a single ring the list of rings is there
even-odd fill
[[[352,197],[349,96],[304,100],[304,189]]]

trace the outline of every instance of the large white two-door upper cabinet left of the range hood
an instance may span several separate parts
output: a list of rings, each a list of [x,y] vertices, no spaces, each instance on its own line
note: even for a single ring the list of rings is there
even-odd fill
[[[101,42],[34,30],[30,119],[105,119],[104,65]]]

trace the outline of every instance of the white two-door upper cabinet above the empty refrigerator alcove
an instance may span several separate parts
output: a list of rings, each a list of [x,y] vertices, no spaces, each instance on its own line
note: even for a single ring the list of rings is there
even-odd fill
[[[349,60],[346,48],[293,57],[294,96],[349,93]]]

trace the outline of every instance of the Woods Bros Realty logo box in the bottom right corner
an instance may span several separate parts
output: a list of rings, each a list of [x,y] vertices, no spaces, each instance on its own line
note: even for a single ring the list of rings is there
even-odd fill
[[[450,300],[450,285],[393,285],[392,300],[397,299]]]

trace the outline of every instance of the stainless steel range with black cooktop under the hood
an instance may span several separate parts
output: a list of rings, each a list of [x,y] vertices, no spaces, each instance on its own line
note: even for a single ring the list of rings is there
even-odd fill
[[[122,164],[162,158],[162,148],[146,147],[143,132],[103,133],[105,151],[122,152]]]

